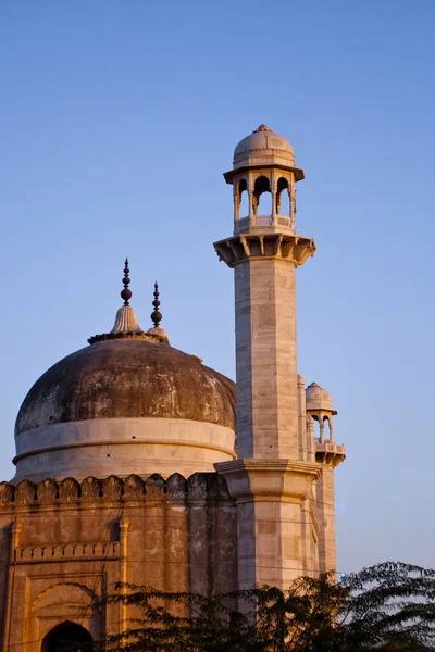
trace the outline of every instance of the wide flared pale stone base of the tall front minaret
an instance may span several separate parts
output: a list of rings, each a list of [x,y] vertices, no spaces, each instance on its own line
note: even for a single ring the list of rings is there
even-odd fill
[[[311,505],[321,466],[256,459],[214,467],[237,504],[239,589],[286,589],[297,577],[316,573],[319,528]]]

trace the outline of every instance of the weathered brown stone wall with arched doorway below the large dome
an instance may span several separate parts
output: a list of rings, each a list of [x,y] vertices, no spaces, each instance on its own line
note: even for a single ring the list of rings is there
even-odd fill
[[[236,590],[236,518],[216,473],[1,482],[1,649],[39,652],[65,619],[96,639],[125,629],[125,607],[95,604],[116,581]]]

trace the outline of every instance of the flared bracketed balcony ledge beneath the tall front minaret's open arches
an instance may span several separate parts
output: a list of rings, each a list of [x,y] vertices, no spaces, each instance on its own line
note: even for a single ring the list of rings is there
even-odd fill
[[[219,259],[228,267],[252,259],[277,259],[298,267],[315,252],[315,243],[311,238],[283,233],[239,235],[214,242],[213,246]]]

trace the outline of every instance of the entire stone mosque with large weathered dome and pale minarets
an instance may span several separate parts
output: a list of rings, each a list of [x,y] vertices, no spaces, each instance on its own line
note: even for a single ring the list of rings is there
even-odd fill
[[[100,602],[117,581],[211,594],[335,568],[345,448],[330,394],[297,369],[296,269],[315,251],[296,234],[303,171],[261,125],[224,178],[234,233],[214,249],[235,277],[236,383],[171,347],[157,286],[140,328],[126,261],[113,328],[48,369],[16,418],[16,475],[0,484],[4,652],[127,629],[128,609]]]

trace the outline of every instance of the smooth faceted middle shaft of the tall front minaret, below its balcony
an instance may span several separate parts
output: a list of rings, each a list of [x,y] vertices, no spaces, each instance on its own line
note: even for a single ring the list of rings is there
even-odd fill
[[[239,457],[300,459],[295,277],[278,258],[235,267]]]

